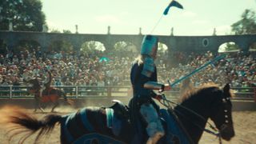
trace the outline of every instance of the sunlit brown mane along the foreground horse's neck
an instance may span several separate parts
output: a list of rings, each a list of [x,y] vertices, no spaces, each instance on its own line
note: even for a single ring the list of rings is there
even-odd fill
[[[220,86],[218,86],[217,84],[215,84],[213,82],[205,83],[205,84],[202,84],[201,86],[198,86],[197,88],[191,88],[189,90],[186,90],[186,92],[184,92],[182,94],[182,96],[180,98],[178,98],[178,102],[184,102],[186,99],[188,99],[188,98],[198,94],[202,90],[206,90],[208,88],[220,90]],[[233,93],[230,93],[231,97],[233,97],[233,95],[234,95]]]

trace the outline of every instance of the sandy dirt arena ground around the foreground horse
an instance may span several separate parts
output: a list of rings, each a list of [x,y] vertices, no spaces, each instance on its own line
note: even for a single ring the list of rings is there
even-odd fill
[[[57,109],[61,111],[59,114],[68,114],[75,110]],[[32,112],[32,110],[29,110]],[[48,113],[49,114],[49,113]],[[35,114],[38,118],[42,118],[46,114]],[[222,141],[224,144],[256,144],[256,111],[236,111],[233,112],[235,137],[230,142]],[[53,132],[46,138],[38,143],[40,144],[58,144],[59,141],[59,126],[55,126]],[[18,144],[19,136],[15,137],[10,144]],[[31,135],[24,143],[34,143],[35,135]],[[8,143],[8,134],[6,134],[5,128],[0,127],[0,143]],[[204,133],[199,144],[218,144],[218,138],[213,135]]]

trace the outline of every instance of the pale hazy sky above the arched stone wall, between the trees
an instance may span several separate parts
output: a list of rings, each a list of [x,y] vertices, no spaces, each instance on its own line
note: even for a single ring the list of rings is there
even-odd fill
[[[184,10],[171,8],[152,34],[230,34],[230,25],[246,9],[256,10],[256,0],[177,0]],[[42,11],[50,29],[80,34],[151,34],[170,0],[42,0]]]

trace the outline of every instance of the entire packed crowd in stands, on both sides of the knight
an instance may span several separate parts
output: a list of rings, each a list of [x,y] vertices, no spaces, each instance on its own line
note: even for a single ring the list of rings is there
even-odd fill
[[[46,79],[46,70],[53,74],[52,86],[120,86],[130,85],[130,67],[134,54],[67,54],[63,52],[42,53],[38,50],[21,51],[19,54],[0,54],[0,86],[26,85],[25,80],[39,77]],[[168,57],[158,55],[158,81],[174,82],[190,74],[199,66],[216,57],[211,52],[181,57],[177,66],[168,63]],[[103,59],[102,59],[103,58]],[[104,59],[105,58],[105,59]],[[227,54],[226,58],[206,66],[190,80],[193,86],[206,82],[233,87],[253,86],[256,83],[256,55],[242,52]]]

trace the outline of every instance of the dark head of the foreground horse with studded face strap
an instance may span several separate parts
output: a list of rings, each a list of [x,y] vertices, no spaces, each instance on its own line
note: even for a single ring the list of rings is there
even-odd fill
[[[221,90],[221,96],[215,97],[211,106],[210,119],[218,128],[221,137],[227,141],[234,137],[232,120],[232,103],[230,101],[230,85],[226,84]]]

